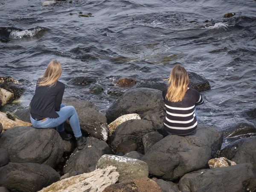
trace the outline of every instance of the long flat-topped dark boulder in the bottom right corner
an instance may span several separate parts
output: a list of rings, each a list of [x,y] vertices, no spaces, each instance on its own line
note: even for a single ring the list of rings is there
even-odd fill
[[[245,192],[256,188],[253,165],[202,169],[187,173],[179,181],[182,192]]]

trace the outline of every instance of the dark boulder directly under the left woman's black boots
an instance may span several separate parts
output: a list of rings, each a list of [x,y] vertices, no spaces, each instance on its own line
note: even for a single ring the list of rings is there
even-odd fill
[[[105,141],[94,137],[88,137],[84,149],[77,150],[71,154],[69,160],[67,160],[67,164],[63,168],[63,172],[90,172],[92,169],[95,169],[96,164],[102,155],[112,153],[113,152]]]

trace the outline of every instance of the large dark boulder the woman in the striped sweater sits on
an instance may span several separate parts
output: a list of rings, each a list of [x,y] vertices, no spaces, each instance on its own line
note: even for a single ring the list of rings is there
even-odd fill
[[[177,180],[188,172],[206,168],[208,160],[216,157],[222,140],[217,127],[198,125],[195,134],[169,135],[160,140],[141,160],[148,164],[151,175]]]

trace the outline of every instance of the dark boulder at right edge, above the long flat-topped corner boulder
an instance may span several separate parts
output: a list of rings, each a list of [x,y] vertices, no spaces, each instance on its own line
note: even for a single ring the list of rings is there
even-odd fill
[[[256,169],[256,137],[238,140],[221,150],[220,157],[239,163],[252,163]]]

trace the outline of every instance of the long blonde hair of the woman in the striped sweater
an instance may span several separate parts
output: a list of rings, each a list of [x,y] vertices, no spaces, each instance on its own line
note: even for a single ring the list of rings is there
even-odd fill
[[[184,98],[189,84],[189,76],[184,67],[176,64],[168,79],[166,99],[170,102],[179,102]]]

